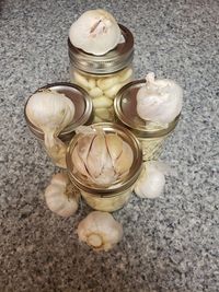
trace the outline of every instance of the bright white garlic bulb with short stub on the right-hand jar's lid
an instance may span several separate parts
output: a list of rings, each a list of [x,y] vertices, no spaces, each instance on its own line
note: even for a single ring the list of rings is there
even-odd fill
[[[181,113],[183,90],[173,80],[146,77],[146,85],[137,93],[137,114],[158,124],[169,124]]]

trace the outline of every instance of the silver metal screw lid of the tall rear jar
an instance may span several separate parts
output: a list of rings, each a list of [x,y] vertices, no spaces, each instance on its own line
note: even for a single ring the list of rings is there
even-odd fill
[[[88,73],[108,74],[127,67],[134,57],[134,36],[131,32],[119,24],[124,43],[102,56],[88,54],[74,47],[68,38],[69,58],[73,67]]]

